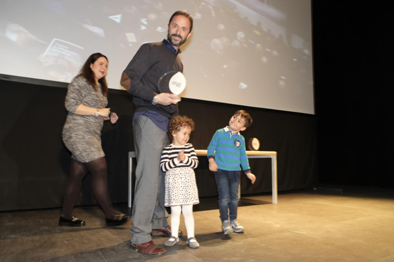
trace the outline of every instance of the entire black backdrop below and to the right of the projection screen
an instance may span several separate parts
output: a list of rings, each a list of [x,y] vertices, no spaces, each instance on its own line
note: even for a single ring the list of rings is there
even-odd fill
[[[278,152],[279,191],[316,182],[393,187],[388,10],[376,3],[312,1],[316,116],[183,99],[180,113],[196,122],[190,142],[206,148],[214,131],[243,108],[253,117],[245,138],[257,137],[261,150]],[[61,206],[70,153],[61,141],[66,89],[55,86],[0,80],[0,211]],[[111,90],[109,106],[120,119],[106,123],[102,132],[116,203],[127,201],[127,152],[134,150],[131,100],[126,92]],[[204,158],[200,163],[200,196],[217,195]],[[250,185],[242,176],[242,193],[270,192],[269,160],[250,163],[257,181]],[[77,205],[95,203],[89,179]]]

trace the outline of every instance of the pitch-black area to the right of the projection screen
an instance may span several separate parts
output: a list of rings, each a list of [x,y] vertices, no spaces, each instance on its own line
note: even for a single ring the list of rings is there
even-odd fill
[[[393,187],[392,15],[382,3],[312,2],[320,182]]]

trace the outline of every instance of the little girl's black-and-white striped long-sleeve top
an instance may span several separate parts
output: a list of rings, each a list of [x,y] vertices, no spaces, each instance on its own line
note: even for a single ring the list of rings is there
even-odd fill
[[[185,153],[185,160],[178,161],[177,157],[182,149]],[[162,169],[163,172],[167,172],[170,169],[178,167],[190,167],[195,169],[198,164],[198,158],[192,144],[186,143],[183,146],[175,146],[171,144],[163,149],[160,160],[160,169]]]

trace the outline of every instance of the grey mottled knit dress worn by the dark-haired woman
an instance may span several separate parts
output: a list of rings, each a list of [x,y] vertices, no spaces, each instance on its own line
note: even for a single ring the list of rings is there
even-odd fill
[[[97,91],[84,77],[76,77],[68,86],[65,107],[69,114],[63,126],[63,142],[71,151],[71,158],[82,163],[105,156],[101,147],[101,130],[104,119],[93,115],[74,114],[80,104],[95,108],[105,108],[108,100]]]

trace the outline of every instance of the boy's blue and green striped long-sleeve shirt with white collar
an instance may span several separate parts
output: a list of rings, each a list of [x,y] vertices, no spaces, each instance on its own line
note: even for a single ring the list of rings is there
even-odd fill
[[[238,171],[241,165],[245,174],[251,172],[245,138],[240,132],[232,134],[228,126],[215,132],[207,151],[208,159],[214,158],[218,169]]]

